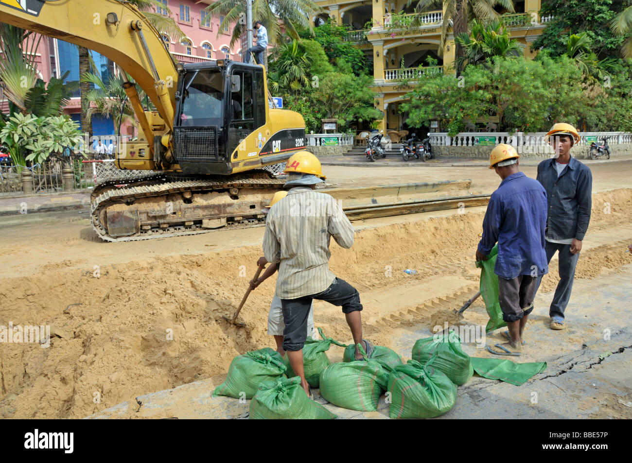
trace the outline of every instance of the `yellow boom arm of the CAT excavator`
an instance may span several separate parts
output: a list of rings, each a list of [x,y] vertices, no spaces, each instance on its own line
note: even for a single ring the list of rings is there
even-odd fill
[[[126,1],[0,0],[0,20],[94,50],[114,61],[147,93],[173,130],[178,71],[160,33]],[[125,91],[153,150],[150,122],[133,85]]]

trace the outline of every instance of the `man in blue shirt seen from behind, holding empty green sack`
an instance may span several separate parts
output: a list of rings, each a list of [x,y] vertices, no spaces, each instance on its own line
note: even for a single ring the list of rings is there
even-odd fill
[[[502,182],[489,198],[483,236],[476,259],[487,256],[498,243],[494,273],[498,275],[498,301],[509,330],[508,342],[488,347],[492,354],[520,356],[523,334],[533,310],[537,277],[548,272],[544,253],[547,194],[538,181],[518,167],[520,156],[511,145],[497,145],[489,155],[489,168]]]

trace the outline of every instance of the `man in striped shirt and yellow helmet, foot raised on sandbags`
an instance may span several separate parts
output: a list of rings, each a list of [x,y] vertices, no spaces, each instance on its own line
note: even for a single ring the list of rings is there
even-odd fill
[[[360,294],[329,270],[329,240],[333,237],[343,248],[351,248],[355,230],[334,198],[313,191],[325,179],[320,161],[308,151],[299,151],[289,158],[285,172],[285,186],[290,189],[268,213],[263,247],[265,259],[279,263],[276,294],[285,323],[283,349],[301,386],[312,397],[303,372],[302,349],[313,299],[342,306],[354,344],[362,343],[368,355],[373,345],[362,339]],[[355,358],[362,359],[357,347]]]

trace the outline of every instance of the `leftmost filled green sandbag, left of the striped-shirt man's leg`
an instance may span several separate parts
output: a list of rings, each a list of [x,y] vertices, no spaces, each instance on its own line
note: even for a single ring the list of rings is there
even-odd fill
[[[245,398],[252,399],[262,382],[276,380],[284,375],[285,370],[281,354],[270,347],[246,352],[233,359],[226,380],[215,388],[213,395],[229,395],[240,399],[243,397],[241,393],[245,392]]]

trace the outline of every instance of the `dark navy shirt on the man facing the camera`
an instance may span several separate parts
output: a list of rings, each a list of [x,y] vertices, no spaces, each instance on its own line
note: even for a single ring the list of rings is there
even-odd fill
[[[586,165],[571,157],[557,177],[555,162],[555,159],[546,159],[538,164],[537,179],[549,200],[547,236],[583,241],[590,222],[592,174]]]

